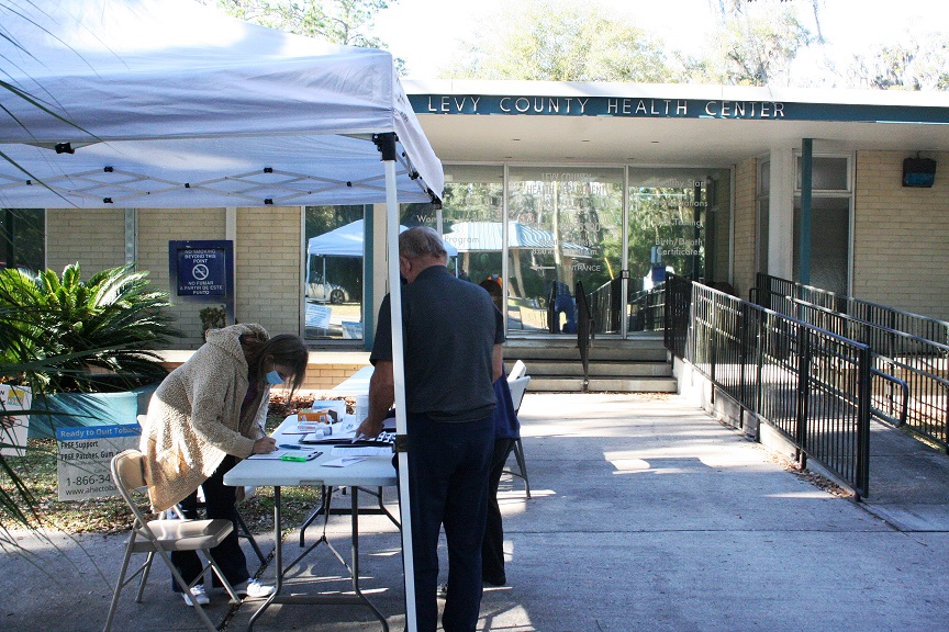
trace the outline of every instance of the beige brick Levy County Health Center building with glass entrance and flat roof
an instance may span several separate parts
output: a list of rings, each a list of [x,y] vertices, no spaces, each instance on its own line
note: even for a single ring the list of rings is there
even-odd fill
[[[405,89],[446,187],[440,211],[404,205],[401,224],[440,224],[459,251],[459,273],[499,276],[511,337],[549,336],[555,282],[582,281],[587,291],[612,284],[628,296],[667,267],[728,283],[744,297],[764,271],[949,319],[945,94],[477,81],[406,81]],[[800,235],[808,156],[810,245]],[[904,160],[917,156],[936,162],[933,187],[903,187]],[[384,294],[383,228],[373,211],[40,213],[49,268],[79,260],[91,272],[135,261],[159,286],[170,285],[169,240],[233,240],[236,318],[300,331],[322,347],[309,383],[322,387],[366,362]],[[364,217],[364,258],[308,260],[310,239]],[[306,278],[308,263],[321,276]],[[343,286],[345,304],[320,298],[321,282]],[[188,334],[182,349],[201,342],[200,307],[175,308]],[[344,324],[361,324],[365,339],[357,326],[348,329],[356,339],[345,340]],[[623,319],[611,336],[635,329]]]

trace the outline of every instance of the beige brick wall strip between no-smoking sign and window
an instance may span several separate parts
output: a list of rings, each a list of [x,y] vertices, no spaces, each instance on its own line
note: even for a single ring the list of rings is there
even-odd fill
[[[300,334],[303,300],[299,206],[237,210],[237,317],[271,335]]]

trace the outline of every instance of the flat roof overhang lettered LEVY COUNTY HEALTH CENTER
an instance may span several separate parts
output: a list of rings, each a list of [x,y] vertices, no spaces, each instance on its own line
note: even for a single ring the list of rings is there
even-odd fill
[[[406,81],[445,161],[724,167],[774,148],[949,151],[949,94]]]

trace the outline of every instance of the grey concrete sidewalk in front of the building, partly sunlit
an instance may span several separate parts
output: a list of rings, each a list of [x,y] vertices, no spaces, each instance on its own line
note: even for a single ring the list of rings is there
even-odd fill
[[[533,498],[520,479],[502,479],[510,586],[485,590],[479,630],[946,627],[949,459],[892,429],[874,427],[871,495],[857,504],[786,471],[772,452],[674,396],[528,393],[521,421]],[[891,474],[898,485],[881,478]],[[348,520],[333,517],[327,532],[344,555]],[[399,632],[399,534],[373,516],[360,517],[360,532],[362,589]],[[57,537],[64,562],[24,537],[36,557],[2,554],[0,629],[101,630],[122,540]],[[259,541],[272,546],[269,533]],[[299,551],[295,531],[287,542],[290,557]],[[291,589],[345,591],[344,575],[321,546]],[[272,567],[263,572],[270,577]],[[156,565],[143,603],[126,589],[113,629],[201,630],[168,582]],[[246,630],[254,602],[232,608],[223,594],[212,599],[213,620]],[[275,606],[254,629],[381,625],[366,608]]]

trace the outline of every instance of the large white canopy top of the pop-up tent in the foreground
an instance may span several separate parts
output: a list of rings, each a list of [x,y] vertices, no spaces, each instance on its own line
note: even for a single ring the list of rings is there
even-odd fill
[[[386,52],[189,0],[14,8],[0,7],[0,79],[12,86],[0,89],[2,206],[384,203],[373,135],[389,133],[399,201],[442,194]]]

